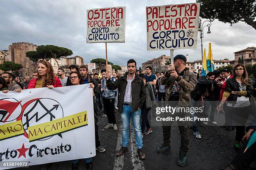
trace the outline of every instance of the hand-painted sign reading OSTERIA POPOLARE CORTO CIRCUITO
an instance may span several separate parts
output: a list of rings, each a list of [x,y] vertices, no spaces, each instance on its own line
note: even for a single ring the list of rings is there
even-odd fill
[[[87,43],[125,42],[125,7],[87,10]]]

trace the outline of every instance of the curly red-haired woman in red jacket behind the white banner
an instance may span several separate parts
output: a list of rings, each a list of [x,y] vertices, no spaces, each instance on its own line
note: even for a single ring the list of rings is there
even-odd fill
[[[62,87],[60,80],[54,75],[53,67],[50,62],[40,60],[37,66],[37,78],[30,80],[28,89],[48,87]]]

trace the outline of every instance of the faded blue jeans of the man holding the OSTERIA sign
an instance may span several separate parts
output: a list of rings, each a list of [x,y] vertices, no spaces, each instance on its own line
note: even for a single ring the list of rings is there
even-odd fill
[[[130,119],[133,121],[133,127],[135,132],[135,142],[138,149],[143,148],[142,133],[141,133],[141,110],[133,112],[133,107],[128,105],[123,105],[123,110],[121,112],[122,119],[122,146],[127,147],[129,140],[129,127]]]

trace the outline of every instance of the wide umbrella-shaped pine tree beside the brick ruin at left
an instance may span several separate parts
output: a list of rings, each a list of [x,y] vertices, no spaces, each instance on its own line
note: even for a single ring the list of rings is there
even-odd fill
[[[65,47],[58,47],[56,45],[40,45],[36,48],[36,51],[39,54],[39,58],[45,59],[46,61],[49,61],[51,58],[54,58],[56,62],[56,59],[60,58],[61,56],[69,56],[73,54],[72,50],[69,50]],[[59,67],[58,62],[57,65]]]

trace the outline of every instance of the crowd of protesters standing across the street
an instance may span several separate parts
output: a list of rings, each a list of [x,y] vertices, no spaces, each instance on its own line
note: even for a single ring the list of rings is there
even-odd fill
[[[244,170],[248,168],[256,155],[256,143],[251,147],[246,147],[250,137],[255,133],[256,117],[250,125],[246,127],[246,121],[240,121],[237,125],[236,119],[241,119],[239,114],[243,110],[250,110],[243,115],[246,120],[250,113],[255,110],[253,93],[255,82],[248,78],[246,67],[238,64],[233,70],[225,67],[223,70],[213,70],[206,75],[202,70],[191,72],[185,67],[186,57],[176,55],[174,64],[168,66],[165,72],[152,74],[152,67],[147,66],[142,72],[137,70],[136,61],[128,60],[126,72],[123,76],[118,76],[115,72],[110,77],[108,70],[102,69],[100,73],[89,74],[87,65],[70,65],[71,73],[65,77],[64,70],[58,69],[57,76],[54,74],[50,62],[41,60],[38,67],[33,72],[33,78],[26,76],[22,82],[19,77],[15,77],[11,72],[3,72],[0,77],[0,90],[3,93],[8,91],[21,92],[24,89],[48,87],[54,89],[62,86],[73,86],[90,84],[93,88],[93,108],[95,118],[95,148],[100,153],[106,149],[100,144],[97,117],[107,117],[108,124],[104,129],[118,130],[116,125],[115,110],[118,110],[122,121],[122,147],[117,151],[116,156],[120,157],[128,151],[130,119],[136,136],[137,153],[141,160],[146,159],[143,151],[143,137],[154,135],[149,120],[151,108],[158,105],[163,106],[162,101],[172,101],[184,107],[195,107],[196,103],[204,105],[202,117],[209,118],[203,121],[202,125],[217,125],[215,120],[216,112],[225,114],[225,124],[221,125],[227,131],[236,130],[234,149],[237,155],[234,160],[224,170]],[[101,77],[100,77],[101,76]],[[158,102],[156,102],[158,101]],[[179,102],[182,101],[182,102]],[[209,102],[211,101],[211,102]],[[232,103],[232,101],[236,101]],[[100,110],[101,114],[97,113]],[[189,113],[190,117],[197,115]],[[191,125],[186,122],[179,124],[179,134],[181,136],[179,156],[177,164],[184,166],[189,152],[189,129],[193,130],[195,138],[202,138],[200,126],[197,121],[192,121]],[[159,143],[157,153],[164,153],[171,150],[171,125],[163,125],[163,143]],[[178,133],[178,132],[177,132]],[[174,139],[172,139],[174,140]],[[246,150],[246,152],[245,152]],[[149,156],[149,155],[148,155]],[[92,169],[92,159],[86,158],[86,168]],[[77,170],[78,160],[72,161],[72,170]],[[42,169],[47,169],[47,164]]]

